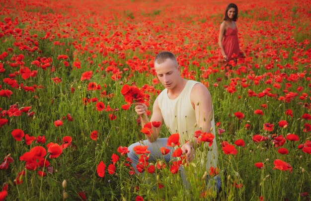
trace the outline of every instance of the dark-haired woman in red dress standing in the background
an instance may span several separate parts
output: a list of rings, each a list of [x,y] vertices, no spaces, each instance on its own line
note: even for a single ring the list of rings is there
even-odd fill
[[[229,63],[231,60],[236,61],[240,56],[240,49],[237,39],[237,28],[235,21],[237,20],[237,6],[230,3],[225,12],[225,18],[220,26],[218,44],[221,49],[222,58]],[[233,56],[235,55],[235,56]]]

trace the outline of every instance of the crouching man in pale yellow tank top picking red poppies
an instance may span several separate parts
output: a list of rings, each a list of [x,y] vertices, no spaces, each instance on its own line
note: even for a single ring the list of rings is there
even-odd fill
[[[176,57],[170,52],[161,52],[155,58],[156,74],[165,89],[156,97],[153,105],[153,114],[149,120],[146,112],[147,106],[142,103],[135,103],[135,111],[140,115],[142,127],[148,122],[160,122],[160,126],[152,127],[152,134],[146,135],[147,140],[134,143],[128,147],[130,151],[128,157],[133,161],[132,166],[136,172],[136,165],[139,157],[133,151],[137,145],[147,145],[150,153],[149,161],[164,158],[166,162],[171,159],[171,152],[162,155],[160,147],[172,148],[167,146],[167,138],[158,138],[163,122],[171,134],[179,133],[181,149],[186,154],[187,161],[201,159],[201,163],[208,171],[211,166],[217,166],[217,143],[214,137],[213,144],[206,147],[203,152],[197,151],[198,138],[194,137],[194,132],[201,130],[203,132],[215,135],[215,121],[213,114],[213,105],[210,92],[200,82],[186,80],[179,75],[179,65]],[[186,179],[183,175],[183,183],[187,187]],[[220,187],[218,181],[217,189]]]

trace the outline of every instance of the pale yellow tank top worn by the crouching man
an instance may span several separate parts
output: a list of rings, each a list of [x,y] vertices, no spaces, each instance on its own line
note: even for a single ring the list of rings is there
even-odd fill
[[[164,89],[158,96],[158,106],[161,110],[164,124],[170,134],[179,133],[179,139],[181,144],[184,144],[187,140],[192,140],[194,132],[199,130],[195,117],[195,111],[190,101],[190,93],[196,83],[200,82],[188,80],[185,87],[180,92],[179,96],[175,99],[168,98],[167,89]],[[211,133],[215,135],[214,111],[213,119],[211,120],[211,126],[213,128]],[[200,159],[202,165],[205,163],[208,170],[211,166],[217,166],[218,152],[216,135],[214,137],[211,147],[207,148],[208,143],[205,143],[204,145],[204,151],[201,152],[197,150],[195,158],[197,160]]]

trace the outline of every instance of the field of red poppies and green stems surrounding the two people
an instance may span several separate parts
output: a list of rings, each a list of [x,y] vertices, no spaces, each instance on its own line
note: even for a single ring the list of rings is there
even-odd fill
[[[311,1],[243,0],[244,58],[220,64],[225,0],[3,0],[0,4],[0,201],[311,199]],[[149,161],[148,115],[164,87],[158,52],[213,101],[218,166]],[[160,137],[168,137],[163,126]],[[169,150],[161,148],[163,155]],[[191,172],[185,190],[179,167]],[[219,175],[217,194],[206,177]]]

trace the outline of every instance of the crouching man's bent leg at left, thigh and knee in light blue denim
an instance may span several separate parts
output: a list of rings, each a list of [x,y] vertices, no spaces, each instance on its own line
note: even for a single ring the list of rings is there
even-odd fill
[[[129,158],[131,158],[132,160],[132,166],[135,170],[136,173],[138,173],[137,171],[137,168],[136,168],[136,165],[138,164],[138,160],[140,158],[139,155],[137,155],[135,153],[135,151],[133,150],[133,148],[135,146],[138,146],[138,145],[141,145],[141,146],[148,146],[148,149],[150,151],[150,157],[149,157],[149,160],[148,162],[152,162],[152,161],[156,161],[157,159],[164,159],[166,162],[169,162],[170,161],[170,158],[171,158],[171,154],[172,154],[172,147],[170,146],[166,146],[166,143],[167,143],[167,138],[158,138],[156,139],[156,141],[154,142],[150,142],[148,141],[147,139],[143,141],[143,143],[140,143],[140,142],[136,142],[134,144],[131,144],[129,147],[128,147],[128,150],[130,151],[127,155]],[[163,155],[160,151],[160,147],[166,147],[168,149],[170,149],[170,152],[166,155]]]

